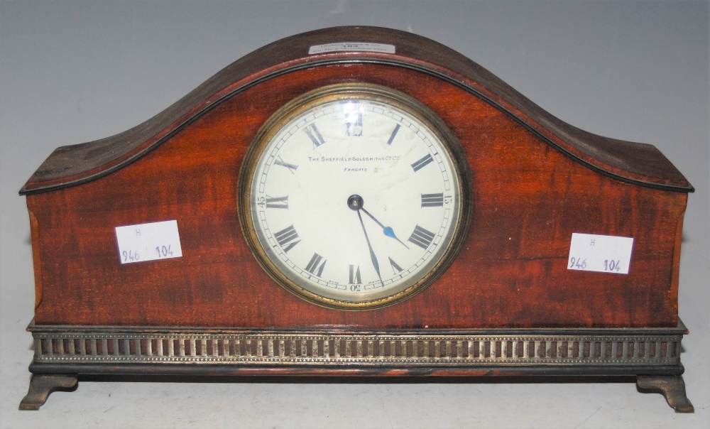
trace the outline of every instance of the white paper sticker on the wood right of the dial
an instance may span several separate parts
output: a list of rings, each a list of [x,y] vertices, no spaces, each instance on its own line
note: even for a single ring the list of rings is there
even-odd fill
[[[628,274],[633,238],[572,234],[567,269]]]

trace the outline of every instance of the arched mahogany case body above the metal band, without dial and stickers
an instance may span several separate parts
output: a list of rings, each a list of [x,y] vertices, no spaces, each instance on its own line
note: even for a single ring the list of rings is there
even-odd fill
[[[470,227],[406,300],[323,308],[264,271],[240,227],[239,173],[259,129],[328,85],[406,94],[454,134]],[[653,146],[564,124],[438,43],[383,28],[313,31],[256,50],[146,123],[58,148],[27,195],[38,325],[676,327],[692,187]],[[177,221],[182,256],[121,264],[116,227]],[[568,269],[572,234],[633,237],[628,274]]]

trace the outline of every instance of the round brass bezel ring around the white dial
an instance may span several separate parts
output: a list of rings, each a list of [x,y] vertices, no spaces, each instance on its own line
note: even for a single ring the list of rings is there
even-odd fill
[[[299,114],[302,114],[302,112],[320,104],[344,99],[367,99],[373,102],[389,104],[408,112],[422,121],[422,123],[426,124],[430,131],[437,136],[439,141],[442,142],[444,149],[448,151],[456,179],[459,183],[458,219],[452,233],[451,241],[449,241],[449,246],[447,250],[444,251],[439,261],[432,266],[425,276],[407,288],[383,298],[359,302],[339,300],[319,295],[298,285],[289,276],[286,276],[285,273],[280,271],[261,245],[261,241],[253,226],[251,210],[252,180],[256,173],[258,161],[266,146],[268,146],[268,143],[271,142],[271,139],[278,134],[283,126],[288,124],[289,121]],[[425,104],[422,104],[422,102],[419,102],[417,99],[403,92],[381,85],[361,82],[327,85],[302,94],[285,104],[261,126],[261,129],[259,129],[256,136],[254,136],[249,149],[246,151],[239,173],[239,184],[237,188],[239,224],[246,243],[258,264],[273,281],[285,288],[285,290],[288,290],[290,293],[293,293],[303,300],[325,308],[349,311],[374,310],[376,308],[394,305],[413,297],[425,288],[431,286],[432,283],[451,266],[454,259],[456,259],[459,254],[469,232],[471,213],[473,212],[473,188],[471,183],[469,164],[466,161],[466,154],[463,148],[461,148],[459,140],[449,129],[447,124],[445,124],[437,114],[432,112],[431,109],[426,107]]]

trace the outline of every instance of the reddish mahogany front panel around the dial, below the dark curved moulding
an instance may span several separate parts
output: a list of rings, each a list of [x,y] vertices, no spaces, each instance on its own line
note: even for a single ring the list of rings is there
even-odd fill
[[[380,310],[329,310],[291,295],[258,266],[239,227],[237,178],[261,124],[290,99],[337,82],[371,82],[419,99],[457,135],[473,178],[471,229],[454,264],[419,295]],[[540,124],[521,123],[520,117],[466,87],[411,67],[330,64],[261,80],[175,131],[161,131],[168,136],[162,143],[110,174],[28,195],[35,323],[676,326],[687,193],[610,177],[551,145],[540,134],[559,136],[537,130]],[[652,151],[646,146],[638,146],[638,153],[648,161],[643,156]],[[633,146],[624,147],[633,157]],[[111,146],[92,150],[109,153]],[[623,156],[618,159],[623,164]],[[667,173],[664,163],[659,168],[658,183],[684,186],[682,175]],[[120,264],[115,227],[167,219],[178,221],[181,258]],[[573,232],[633,237],[628,275],[568,270]]]

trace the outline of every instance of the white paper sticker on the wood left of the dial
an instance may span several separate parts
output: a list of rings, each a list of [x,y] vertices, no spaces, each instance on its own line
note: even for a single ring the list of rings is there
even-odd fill
[[[177,220],[116,227],[116,241],[121,264],[182,256]]]

